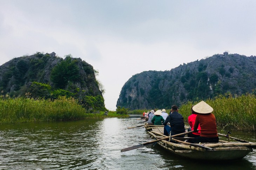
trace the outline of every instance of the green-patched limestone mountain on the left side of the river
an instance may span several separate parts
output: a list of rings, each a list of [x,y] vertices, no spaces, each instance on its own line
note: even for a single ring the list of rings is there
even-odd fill
[[[2,96],[74,97],[86,108],[106,110],[93,66],[71,55],[54,52],[14,58],[0,66]]]

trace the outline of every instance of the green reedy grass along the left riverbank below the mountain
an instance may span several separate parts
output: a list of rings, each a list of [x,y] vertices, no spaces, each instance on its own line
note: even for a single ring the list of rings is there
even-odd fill
[[[87,118],[128,117],[108,112],[87,113],[73,98],[61,97],[54,101],[30,98],[0,98],[0,123],[78,120]]]

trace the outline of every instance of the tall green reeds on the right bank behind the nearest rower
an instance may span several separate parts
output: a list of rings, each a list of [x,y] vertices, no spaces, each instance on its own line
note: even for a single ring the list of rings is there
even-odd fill
[[[200,102],[200,101],[198,101]],[[188,102],[180,107],[179,112],[187,120],[191,114],[191,106],[198,102]],[[247,94],[238,97],[229,95],[219,96],[205,101],[213,109],[217,126],[233,127],[238,130],[255,131],[256,127],[256,98]]]

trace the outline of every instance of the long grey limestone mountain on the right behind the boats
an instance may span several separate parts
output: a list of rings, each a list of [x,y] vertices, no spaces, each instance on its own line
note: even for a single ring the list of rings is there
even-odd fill
[[[256,89],[256,56],[215,54],[170,71],[133,75],[122,87],[116,106],[130,109],[170,108],[173,104],[241,95]],[[254,91],[255,93],[255,91]]]

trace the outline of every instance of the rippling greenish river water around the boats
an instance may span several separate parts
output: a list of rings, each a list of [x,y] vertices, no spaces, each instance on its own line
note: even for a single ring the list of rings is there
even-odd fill
[[[133,116],[0,125],[0,169],[256,169],[256,150],[242,160],[224,163],[186,160],[157,145],[121,153],[123,148],[151,140],[144,128],[127,129],[141,121]],[[255,132],[234,131],[232,135],[256,142]]]

